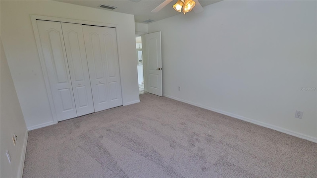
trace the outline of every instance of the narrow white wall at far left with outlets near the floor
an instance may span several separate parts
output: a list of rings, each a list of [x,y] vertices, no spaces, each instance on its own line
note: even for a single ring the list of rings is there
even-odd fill
[[[3,51],[2,42],[0,43],[0,177],[18,178],[22,177],[27,128]],[[15,146],[12,141],[14,133],[17,135]],[[11,163],[6,157],[6,150],[9,150]]]

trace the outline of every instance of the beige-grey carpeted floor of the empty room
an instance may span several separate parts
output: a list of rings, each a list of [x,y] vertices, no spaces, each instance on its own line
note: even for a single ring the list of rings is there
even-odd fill
[[[24,178],[317,178],[317,144],[152,94],[29,132]]]

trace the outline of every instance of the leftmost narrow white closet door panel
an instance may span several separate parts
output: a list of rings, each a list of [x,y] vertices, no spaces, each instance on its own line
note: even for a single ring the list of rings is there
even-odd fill
[[[57,120],[77,117],[60,22],[37,20]]]

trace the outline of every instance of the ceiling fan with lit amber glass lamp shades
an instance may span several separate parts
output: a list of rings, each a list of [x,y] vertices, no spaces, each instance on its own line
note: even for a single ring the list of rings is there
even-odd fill
[[[159,6],[157,6],[155,9],[153,9],[152,12],[159,12],[171,1],[173,0],[165,0],[164,2],[159,4]],[[204,10],[203,6],[199,3],[198,0],[177,0],[177,2],[173,5],[173,8],[178,12],[183,12],[184,14],[190,12],[192,9],[195,13],[199,13]]]

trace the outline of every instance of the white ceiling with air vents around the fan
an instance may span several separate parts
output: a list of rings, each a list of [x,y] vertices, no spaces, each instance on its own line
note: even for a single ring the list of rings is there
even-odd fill
[[[94,7],[94,8],[104,9],[104,10],[110,10],[110,9],[99,7],[101,4],[115,6],[117,8],[110,11],[133,14],[135,22],[140,22],[140,23],[146,23],[144,21],[149,19],[158,21],[158,20],[181,13],[181,12],[177,12],[172,7],[172,5],[176,3],[176,0],[173,0],[172,2],[170,2],[168,5],[166,5],[163,9],[161,9],[157,13],[153,13],[151,11],[155,7],[157,7],[160,3],[162,3],[164,0],[55,0],[55,1],[83,5],[87,7]],[[220,0],[199,0],[199,2],[201,3],[203,7],[218,1]],[[195,12],[192,11],[189,13],[195,13]]]

